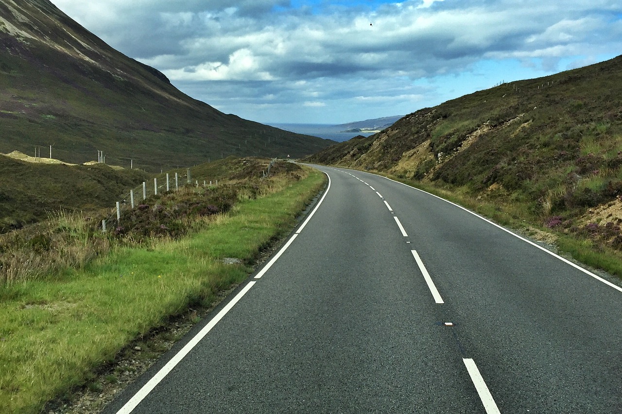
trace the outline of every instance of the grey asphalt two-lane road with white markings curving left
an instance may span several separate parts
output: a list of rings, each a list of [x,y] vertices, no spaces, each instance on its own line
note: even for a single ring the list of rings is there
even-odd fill
[[[622,413],[622,290],[387,178],[330,187],[106,413]]]

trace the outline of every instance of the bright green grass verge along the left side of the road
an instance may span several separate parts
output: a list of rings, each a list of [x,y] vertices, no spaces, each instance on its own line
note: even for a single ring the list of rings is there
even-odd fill
[[[294,226],[324,183],[315,171],[297,182],[280,180],[277,192],[198,222],[197,232],[179,241],[119,247],[53,281],[0,287],[0,412],[38,412],[50,398],[88,383],[96,367],[167,316],[210,303],[244,280],[247,264]],[[223,257],[243,264],[225,265]]]

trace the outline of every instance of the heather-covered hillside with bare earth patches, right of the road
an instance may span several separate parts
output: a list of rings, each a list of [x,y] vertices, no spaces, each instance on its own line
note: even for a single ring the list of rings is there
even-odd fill
[[[586,216],[588,209],[620,203],[621,116],[617,57],[421,109],[307,160],[418,180],[499,209],[513,205],[532,222],[593,230],[620,247],[620,214],[603,214],[591,230],[585,226],[596,220]]]

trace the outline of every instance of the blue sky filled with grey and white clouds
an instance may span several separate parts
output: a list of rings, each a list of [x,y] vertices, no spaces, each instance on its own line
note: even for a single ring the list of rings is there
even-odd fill
[[[52,0],[112,47],[263,123],[405,115],[622,54],[620,0]]]

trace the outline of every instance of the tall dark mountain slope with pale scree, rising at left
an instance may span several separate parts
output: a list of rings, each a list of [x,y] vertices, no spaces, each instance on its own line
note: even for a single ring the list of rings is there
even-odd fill
[[[330,140],[223,114],[109,47],[48,0],[0,0],[0,152],[157,171],[235,155],[300,157]]]

